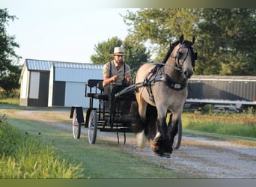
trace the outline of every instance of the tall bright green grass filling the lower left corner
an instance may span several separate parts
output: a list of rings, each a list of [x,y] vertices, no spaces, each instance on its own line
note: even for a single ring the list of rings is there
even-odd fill
[[[0,122],[0,178],[81,178],[81,164],[62,159],[38,136],[24,135]]]

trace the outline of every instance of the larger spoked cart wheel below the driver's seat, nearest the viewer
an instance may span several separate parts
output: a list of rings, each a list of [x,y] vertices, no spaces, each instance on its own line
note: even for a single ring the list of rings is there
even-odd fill
[[[96,110],[90,111],[88,120],[88,141],[90,144],[95,144],[97,136],[97,112]]]

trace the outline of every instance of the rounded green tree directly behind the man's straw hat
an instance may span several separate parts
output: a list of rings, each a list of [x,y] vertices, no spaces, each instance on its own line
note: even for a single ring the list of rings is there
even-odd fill
[[[111,61],[112,57],[109,54],[114,52],[116,46],[124,47],[124,61],[129,64],[131,68],[140,66],[142,62],[146,62],[150,58],[150,52],[147,52],[143,44],[137,43],[133,40],[133,37],[127,36],[124,42],[118,37],[112,37],[107,41],[97,43],[94,47],[96,54],[91,55],[91,61],[93,61],[94,64],[105,64]]]

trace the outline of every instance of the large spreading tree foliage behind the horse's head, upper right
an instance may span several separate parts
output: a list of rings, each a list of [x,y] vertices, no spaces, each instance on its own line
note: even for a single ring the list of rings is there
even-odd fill
[[[141,9],[123,16],[138,42],[153,46],[156,61],[170,42],[195,35],[195,74],[255,75],[255,9]]]

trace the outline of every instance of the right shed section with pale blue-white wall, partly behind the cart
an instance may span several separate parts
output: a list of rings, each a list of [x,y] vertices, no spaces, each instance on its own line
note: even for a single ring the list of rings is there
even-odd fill
[[[85,82],[88,79],[103,79],[103,65],[52,63],[49,77],[48,106],[81,105],[85,108],[89,107],[89,99],[85,98]]]

